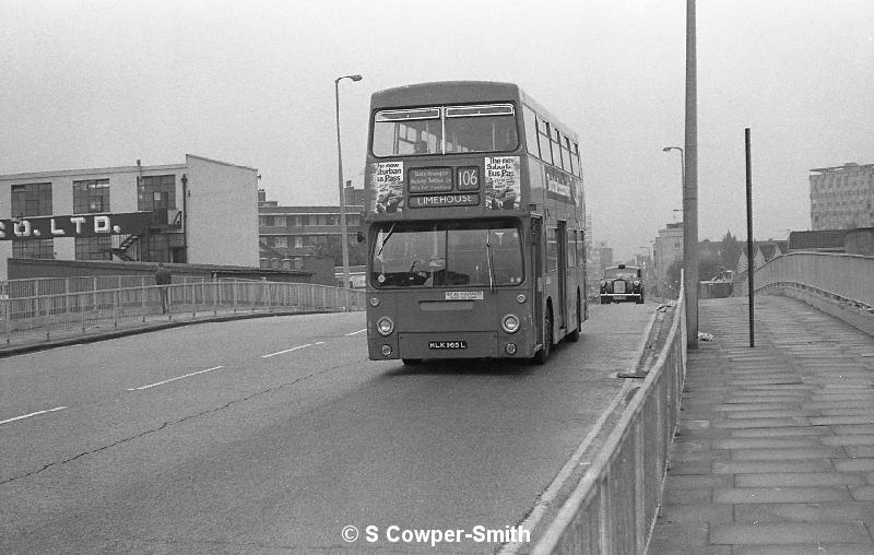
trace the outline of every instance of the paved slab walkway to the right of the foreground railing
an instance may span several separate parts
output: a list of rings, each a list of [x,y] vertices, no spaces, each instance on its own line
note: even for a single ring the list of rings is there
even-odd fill
[[[649,554],[874,553],[874,338],[781,296],[707,299]]]

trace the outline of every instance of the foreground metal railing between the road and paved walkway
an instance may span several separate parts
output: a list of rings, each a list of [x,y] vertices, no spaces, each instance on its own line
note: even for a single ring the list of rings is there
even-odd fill
[[[685,380],[683,297],[681,288],[659,358],[531,553],[646,552],[661,503]]]

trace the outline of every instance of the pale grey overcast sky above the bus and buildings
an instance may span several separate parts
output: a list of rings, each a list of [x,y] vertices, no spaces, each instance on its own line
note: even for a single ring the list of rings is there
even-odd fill
[[[281,204],[361,186],[374,91],[518,83],[580,137],[591,234],[642,253],[681,220],[685,0],[0,0],[0,174],[251,166]],[[699,237],[808,229],[811,168],[874,163],[874,1],[699,0]]]

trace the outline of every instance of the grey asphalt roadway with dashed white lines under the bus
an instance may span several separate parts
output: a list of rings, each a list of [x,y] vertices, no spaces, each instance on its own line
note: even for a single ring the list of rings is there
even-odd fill
[[[0,552],[492,553],[590,463],[657,308],[592,307],[543,367],[370,362],[363,312],[7,356]]]

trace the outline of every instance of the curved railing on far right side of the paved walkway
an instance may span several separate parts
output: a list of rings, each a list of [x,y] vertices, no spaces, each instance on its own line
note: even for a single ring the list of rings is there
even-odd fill
[[[874,307],[874,257],[832,252],[790,252],[753,272],[754,291],[804,290],[834,300]],[[734,296],[748,294],[747,274],[734,280]]]

